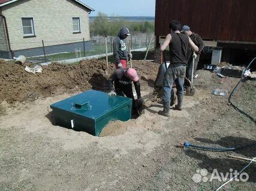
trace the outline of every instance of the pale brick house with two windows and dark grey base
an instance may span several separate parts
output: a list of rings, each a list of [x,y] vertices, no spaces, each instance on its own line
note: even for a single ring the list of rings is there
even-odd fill
[[[79,0],[0,0],[0,58],[43,55],[43,42],[46,54],[90,50],[91,11]]]

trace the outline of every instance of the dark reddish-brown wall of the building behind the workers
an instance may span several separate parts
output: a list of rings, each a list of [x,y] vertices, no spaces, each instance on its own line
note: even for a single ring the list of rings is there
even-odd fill
[[[203,39],[256,42],[255,0],[156,0],[155,35],[170,33],[171,20]]]

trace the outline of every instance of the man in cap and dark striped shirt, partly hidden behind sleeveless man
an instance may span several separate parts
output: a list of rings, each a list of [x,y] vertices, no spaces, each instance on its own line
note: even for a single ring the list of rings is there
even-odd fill
[[[195,62],[194,62],[194,73],[192,74],[192,63],[193,63],[193,50],[191,50],[191,48],[189,48],[188,51],[188,70],[186,70],[186,76],[188,76],[188,79],[191,79],[192,76],[195,75],[195,70],[197,70],[197,64],[199,61],[199,57],[201,54],[201,51],[204,48],[204,44],[203,44],[203,40],[201,39],[201,37],[197,34],[194,33],[190,30],[190,27],[187,25],[184,25],[182,27],[182,29],[180,30],[180,32],[188,35],[191,40],[194,42],[195,45],[197,45],[198,47],[198,51],[195,52],[196,57],[195,57]]]

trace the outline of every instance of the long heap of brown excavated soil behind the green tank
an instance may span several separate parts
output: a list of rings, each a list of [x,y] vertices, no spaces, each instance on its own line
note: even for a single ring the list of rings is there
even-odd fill
[[[157,64],[149,61],[133,62],[141,79],[152,83]],[[69,91],[88,89],[107,90],[107,78],[115,70],[109,63],[107,72],[105,60],[82,60],[79,64],[52,63],[43,66],[43,73],[28,73],[25,66],[0,61],[0,103],[7,101],[33,101],[38,97],[52,96]],[[109,74],[109,75],[107,75]]]

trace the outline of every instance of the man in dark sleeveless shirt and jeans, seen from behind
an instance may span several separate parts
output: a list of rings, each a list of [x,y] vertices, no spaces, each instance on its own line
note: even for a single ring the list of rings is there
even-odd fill
[[[164,84],[162,90],[164,95],[162,96],[162,102],[164,110],[159,110],[159,115],[170,116],[170,100],[171,100],[171,90],[173,87],[173,82],[176,84],[177,88],[177,105],[176,110],[182,110],[182,100],[183,100],[183,85],[186,75],[186,64],[187,64],[187,54],[188,47],[192,48],[194,51],[198,51],[197,45],[191,41],[191,39],[185,34],[180,33],[180,22],[173,20],[170,25],[171,33],[169,33],[164,43],[161,45],[161,51],[169,46],[170,53],[170,65],[168,66],[164,74]]]

